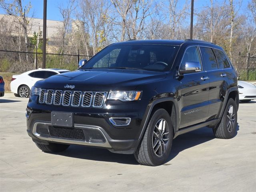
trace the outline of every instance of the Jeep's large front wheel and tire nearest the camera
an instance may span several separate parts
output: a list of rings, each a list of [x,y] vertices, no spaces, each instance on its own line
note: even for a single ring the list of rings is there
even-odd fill
[[[164,122],[165,129],[163,130]],[[160,127],[162,127],[162,131],[159,130]],[[162,133],[161,136],[159,133]],[[158,109],[152,113],[134,157],[142,165],[158,166],[164,164],[170,155],[172,139],[173,126],[170,114],[164,109]],[[165,152],[162,149],[165,149]]]

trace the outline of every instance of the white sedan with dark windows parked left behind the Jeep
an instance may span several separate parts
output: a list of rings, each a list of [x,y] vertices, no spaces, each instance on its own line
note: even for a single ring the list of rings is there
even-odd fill
[[[27,98],[29,97],[30,90],[35,82],[65,72],[69,72],[69,70],[39,68],[22,73],[20,75],[13,75],[11,82],[11,92],[13,92],[17,97]]]

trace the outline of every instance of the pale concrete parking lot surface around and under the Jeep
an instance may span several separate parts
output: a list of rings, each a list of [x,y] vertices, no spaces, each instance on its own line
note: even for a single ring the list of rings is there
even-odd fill
[[[84,146],[44,153],[27,135],[27,102],[0,98],[1,192],[256,190],[255,101],[240,104],[236,137],[216,139],[210,128],[178,136],[168,162],[157,167]]]

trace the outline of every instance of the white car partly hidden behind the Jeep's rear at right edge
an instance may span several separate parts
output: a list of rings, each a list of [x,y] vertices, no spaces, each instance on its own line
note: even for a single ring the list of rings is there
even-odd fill
[[[256,86],[254,84],[238,81],[238,90],[240,102],[250,102],[256,99]]]

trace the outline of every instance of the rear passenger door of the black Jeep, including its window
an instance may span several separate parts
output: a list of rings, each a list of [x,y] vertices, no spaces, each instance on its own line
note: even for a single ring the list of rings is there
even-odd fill
[[[203,68],[207,72],[210,80],[209,112],[206,120],[212,120],[218,118],[229,81],[225,70],[220,67],[222,58],[218,50],[201,46],[200,51],[202,54]]]

